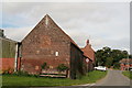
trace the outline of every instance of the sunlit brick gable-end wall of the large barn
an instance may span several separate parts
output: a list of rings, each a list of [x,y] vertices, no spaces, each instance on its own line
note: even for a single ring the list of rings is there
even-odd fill
[[[45,24],[44,18],[22,41],[21,68],[25,72],[40,73],[43,63],[47,63],[51,69],[55,69],[59,64],[69,67],[69,38],[53,20],[47,19],[48,24]]]

